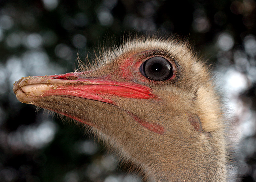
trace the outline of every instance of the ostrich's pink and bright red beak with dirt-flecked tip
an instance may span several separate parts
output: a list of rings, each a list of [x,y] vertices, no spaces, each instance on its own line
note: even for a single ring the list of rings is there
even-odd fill
[[[87,78],[84,72],[52,76],[28,76],[14,83],[13,92],[20,102],[33,104],[38,98],[66,95],[115,104],[111,98],[148,99],[156,97],[147,86],[117,82],[101,76]]]

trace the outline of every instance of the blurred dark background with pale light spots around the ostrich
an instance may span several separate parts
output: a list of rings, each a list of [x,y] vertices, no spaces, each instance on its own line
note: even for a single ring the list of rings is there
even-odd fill
[[[12,92],[22,76],[74,71],[77,53],[86,61],[129,31],[178,33],[204,55],[232,118],[233,181],[256,181],[254,0],[1,0],[0,181],[141,181],[82,127],[36,112]]]

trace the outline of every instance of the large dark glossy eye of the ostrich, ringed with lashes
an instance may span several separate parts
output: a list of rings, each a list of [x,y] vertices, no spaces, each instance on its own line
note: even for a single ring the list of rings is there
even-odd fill
[[[140,66],[143,76],[151,80],[167,80],[173,74],[172,64],[163,57],[152,57]]]

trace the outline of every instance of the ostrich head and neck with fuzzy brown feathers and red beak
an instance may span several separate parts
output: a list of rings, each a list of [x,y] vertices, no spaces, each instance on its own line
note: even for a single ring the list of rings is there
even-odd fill
[[[81,72],[23,77],[20,102],[92,127],[146,181],[226,181],[220,97],[189,43],[144,36],[104,50]]]

